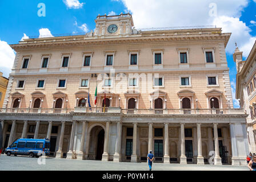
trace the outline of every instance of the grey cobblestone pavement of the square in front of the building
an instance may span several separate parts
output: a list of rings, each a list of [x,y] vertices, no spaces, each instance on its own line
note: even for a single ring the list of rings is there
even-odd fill
[[[42,158],[39,158],[42,162]],[[38,158],[27,156],[0,156],[0,171],[148,171],[147,163],[114,163],[97,160],[71,160],[46,158],[45,165]],[[197,164],[153,163],[153,171],[248,171],[247,166],[214,166]]]

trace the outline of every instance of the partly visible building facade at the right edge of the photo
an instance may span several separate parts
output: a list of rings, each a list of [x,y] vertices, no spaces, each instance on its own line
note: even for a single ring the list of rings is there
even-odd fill
[[[256,43],[251,49],[246,61],[242,60],[243,52],[238,48],[234,52],[234,61],[237,65],[236,98],[247,114],[247,138],[250,152],[256,153]]]

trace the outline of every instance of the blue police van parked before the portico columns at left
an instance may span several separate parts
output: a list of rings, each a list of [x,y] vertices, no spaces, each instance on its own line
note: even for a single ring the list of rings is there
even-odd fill
[[[5,150],[7,156],[28,155],[30,158],[42,156],[43,152],[50,155],[49,139],[17,139]]]

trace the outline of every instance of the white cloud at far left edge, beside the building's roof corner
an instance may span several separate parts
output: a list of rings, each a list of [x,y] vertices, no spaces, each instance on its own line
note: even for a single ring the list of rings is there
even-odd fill
[[[0,40],[0,72],[3,76],[9,77],[13,62],[15,59],[15,51],[5,41]]]

